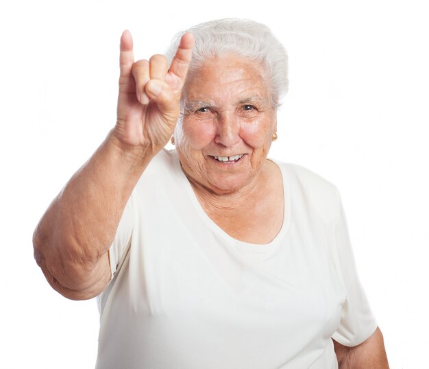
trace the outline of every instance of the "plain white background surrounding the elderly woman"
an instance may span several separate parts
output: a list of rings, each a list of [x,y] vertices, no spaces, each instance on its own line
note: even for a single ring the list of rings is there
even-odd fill
[[[391,368],[429,368],[425,1],[5,3],[1,368],[95,364],[95,300],[66,300],[49,287],[32,256],[32,232],[114,124],[121,32],[130,29],[136,57],[149,58],[181,29],[231,16],[266,23],[289,53],[290,91],[271,156],[339,187]]]

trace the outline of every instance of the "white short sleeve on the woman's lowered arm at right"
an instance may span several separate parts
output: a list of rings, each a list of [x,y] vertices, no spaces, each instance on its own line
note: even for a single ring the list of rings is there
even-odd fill
[[[345,214],[339,196],[338,199],[339,217],[334,226],[336,264],[341,273],[347,297],[343,304],[339,328],[332,338],[344,346],[351,347],[367,340],[376,331],[377,322],[358,279]]]

